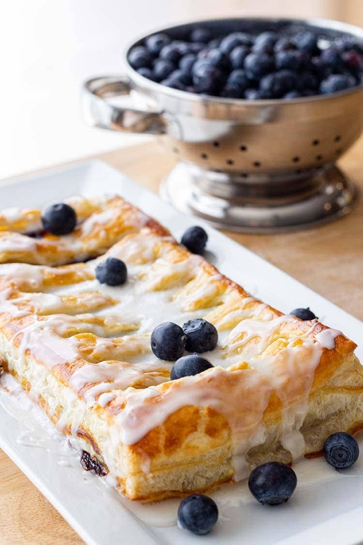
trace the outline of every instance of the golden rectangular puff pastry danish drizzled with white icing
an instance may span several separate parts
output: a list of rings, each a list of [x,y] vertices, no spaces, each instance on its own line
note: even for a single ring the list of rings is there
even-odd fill
[[[153,501],[363,427],[363,369],[340,331],[251,297],[120,197],[67,202],[82,223],[65,237],[29,236],[38,210],[0,214],[0,353],[84,465]],[[95,279],[109,256],[127,265],[120,287]],[[171,381],[151,331],[196,317],[218,330],[214,367]]]

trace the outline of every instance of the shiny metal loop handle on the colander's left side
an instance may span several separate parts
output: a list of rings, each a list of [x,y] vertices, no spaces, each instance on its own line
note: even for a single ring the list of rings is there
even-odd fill
[[[104,76],[88,80],[83,85],[83,114],[91,126],[122,132],[142,132],[160,135],[166,132],[166,121],[161,112],[115,106],[106,99],[129,95],[127,76]]]

